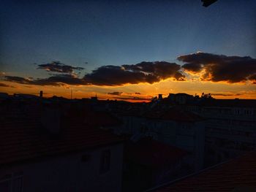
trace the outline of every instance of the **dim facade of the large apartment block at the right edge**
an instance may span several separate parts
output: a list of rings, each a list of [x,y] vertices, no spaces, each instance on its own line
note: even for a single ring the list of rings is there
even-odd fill
[[[227,161],[256,148],[253,107],[189,106],[206,118],[206,166]]]

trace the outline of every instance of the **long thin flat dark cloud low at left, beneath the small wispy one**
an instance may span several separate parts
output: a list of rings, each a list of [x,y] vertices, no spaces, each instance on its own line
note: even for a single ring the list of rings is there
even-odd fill
[[[48,78],[42,78],[42,79],[31,79],[31,78],[23,78],[23,77],[15,77],[15,76],[5,76],[5,79],[10,82],[18,82],[21,84],[27,84],[27,85],[53,85],[53,86],[60,86],[63,84],[68,85],[83,85],[85,82],[75,77],[75,75],[72,74],[58,74],[53,75]]]

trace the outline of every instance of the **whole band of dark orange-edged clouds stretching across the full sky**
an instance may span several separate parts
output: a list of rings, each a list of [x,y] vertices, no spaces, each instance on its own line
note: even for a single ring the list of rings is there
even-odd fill
[[[51,74],[46,78],[24,78],[3,76],[3,80],[27,85],[108,85],[138,84],[140,82],[152,84],[172,78],[183,81],[189,73],[200,74],[200,80],[211,82],[252,82],[256,84],[256,59],[249,56],[227,56],[211,53],[192,53],[181,55],[178,61],[185,64],[180,66],[166,61],[146,62],[121,66],[100,66],[91,73],[78,77],[75,70],[82,67],[61,64],[53,61],[50,64],[38,65],[38,69],[45,69]],[[109,93],[118,95],[118,93]]]

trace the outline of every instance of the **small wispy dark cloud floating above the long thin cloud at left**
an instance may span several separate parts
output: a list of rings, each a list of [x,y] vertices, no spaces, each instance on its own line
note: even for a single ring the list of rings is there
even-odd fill
[[[38,65],[37,69],[45,69],[48,72],[59,72],[72,74],[74,70],[83,70],[83,67],[69,66],[66,64],[61,64],[59,61],[53,61],[50,64]]]

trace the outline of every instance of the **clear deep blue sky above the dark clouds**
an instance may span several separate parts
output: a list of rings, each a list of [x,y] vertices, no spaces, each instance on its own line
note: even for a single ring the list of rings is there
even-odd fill
[[[5,1],[1,70],[174,61],[178,55],[255,55],[255,1]],[[89,64],[85,64],[88,62]],[[39,74],[38,74],[39,75]]]

